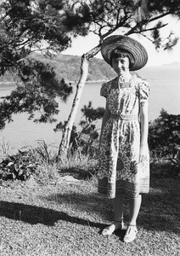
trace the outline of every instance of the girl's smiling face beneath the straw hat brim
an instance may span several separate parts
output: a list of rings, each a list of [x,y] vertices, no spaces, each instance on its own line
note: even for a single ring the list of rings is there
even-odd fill
[[[129,59],[127,57],[118,57],[112,59],[112,67],[119,76],[129,73]]]

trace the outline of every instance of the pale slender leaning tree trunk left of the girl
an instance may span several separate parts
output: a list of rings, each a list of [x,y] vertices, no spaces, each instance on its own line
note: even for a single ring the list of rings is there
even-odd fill
[[[67,155],[67,150],[70,144],[70,134],[72,131],[72,126],[76,118],[77,109],[82,96],[82,90],[87,80],[89,60],[93,58],[93,56],[96,55],[99,50],[100,44],[98,44],[98,46],[88,51],[85,55],[82,55],[81,77],[79,79],[78,84],[76,85],[76,95],[72,103],[70,115],[65,125],[65,130],[63,131],[61,143],[59,145],[58,159],[66,157]]]

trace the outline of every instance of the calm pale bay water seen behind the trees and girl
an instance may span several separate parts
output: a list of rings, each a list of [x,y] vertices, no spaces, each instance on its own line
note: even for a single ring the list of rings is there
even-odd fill
[[[167,113],[180,113],[180,67],[144,67],[137,72],[138,75],[147,80],[150,84],[149,96],[149,120],[154,120],[160,115],[160,110],[164,108]],[[99,95],[102,82],[87,83],[82,92],[82,98],[76,114],[76,125],[82,117],[81,108],[87,105],[89,101],[93,103],[93,108],[104,107],[105,99]],[[59,101],[58,121],[64,121],[68,118],[70,108],[76,93],[76,84],[73,85],[73,94],[68,102]],[[14,89],[14,84],[0,84],[0,96],[7,96]],[[3,150],[2,144],[10,145],[10,152],[15,153],[18,149],[37,145],[37,141],[44,140],[50,148],[57,150],[62,137],[62,132],[54,132],[53,124],[35,124],[27,119],[26,113],[20,113],[13,116],[14,122],[6,125],[3,131],[0,131],[0,151]],[[101,122],[98,122],[100,129]]]

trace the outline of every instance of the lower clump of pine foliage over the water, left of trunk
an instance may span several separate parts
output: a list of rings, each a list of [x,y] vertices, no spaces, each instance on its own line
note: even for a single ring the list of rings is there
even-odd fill
[[[56,121],[54,114],[59,113],[56,97],[66,101],[72,92],[72,87],[65,84],[64,79],[61,81],[55,79],[52,67],[48,65],[45,67],[43,63],[38,64],[38,69],[41,66],[41,71],[36,72],[35,65],[33,73],[28,73],[25,79],[21,79],[25,80],[25,83],[20,83],[0,102],[0,129],[5,127],[7,121],[13,120],[13,113],[26,112],[29,114],[29,119],[34,119],[34,122]]]

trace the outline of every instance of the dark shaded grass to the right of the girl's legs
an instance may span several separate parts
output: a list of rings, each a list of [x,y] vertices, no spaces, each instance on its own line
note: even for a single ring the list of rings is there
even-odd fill
[[[143,195],[138,223],[147,230],[180,235],[180,178],[153,178],[150,193]]]

